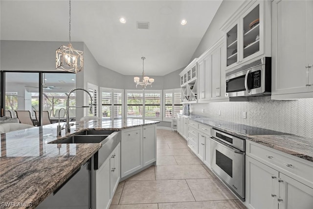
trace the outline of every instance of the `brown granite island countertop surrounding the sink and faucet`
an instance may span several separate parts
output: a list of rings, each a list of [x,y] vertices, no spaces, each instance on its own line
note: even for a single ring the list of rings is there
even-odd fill
[[[71,133],[66,135],[63,130],[59,138],[56,137],[57,123],[1,134],[0,208],[4,208],[4,203],[14,203],[17,206],[14,208],[35,208],[101,148],[100,143],[49,142],[88,129],[121,130],[155,123],[159,122],[141,119],[79,121],[71,126]],[[25,207],[19,207],[22,204]]]

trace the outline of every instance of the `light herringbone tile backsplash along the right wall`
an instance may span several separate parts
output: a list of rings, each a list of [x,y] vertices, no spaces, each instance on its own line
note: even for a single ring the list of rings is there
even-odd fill
[[[249,97],[247,102],[191,104],[190,112],[192,115],[313,138],[313,98],[271,100],[270,96]],[[243,112],[246,112],[246,119]]]

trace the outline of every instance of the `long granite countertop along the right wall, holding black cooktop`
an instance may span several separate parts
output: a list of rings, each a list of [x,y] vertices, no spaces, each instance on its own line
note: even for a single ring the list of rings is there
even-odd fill
[[[313,139],[203,116],[191,120],[313,162]]]

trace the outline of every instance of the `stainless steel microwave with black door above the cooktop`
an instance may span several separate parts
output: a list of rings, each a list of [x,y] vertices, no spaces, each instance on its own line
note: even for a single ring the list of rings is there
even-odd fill
[[[263,57],[226,73],[226,96],[268,95],[270,91],[270,57]]]

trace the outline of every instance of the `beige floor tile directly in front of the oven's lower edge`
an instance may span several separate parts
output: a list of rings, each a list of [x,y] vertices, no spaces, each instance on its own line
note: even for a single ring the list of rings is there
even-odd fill
[[[218,179],[187,179],[186,181],[196,201],[237,199]]]

